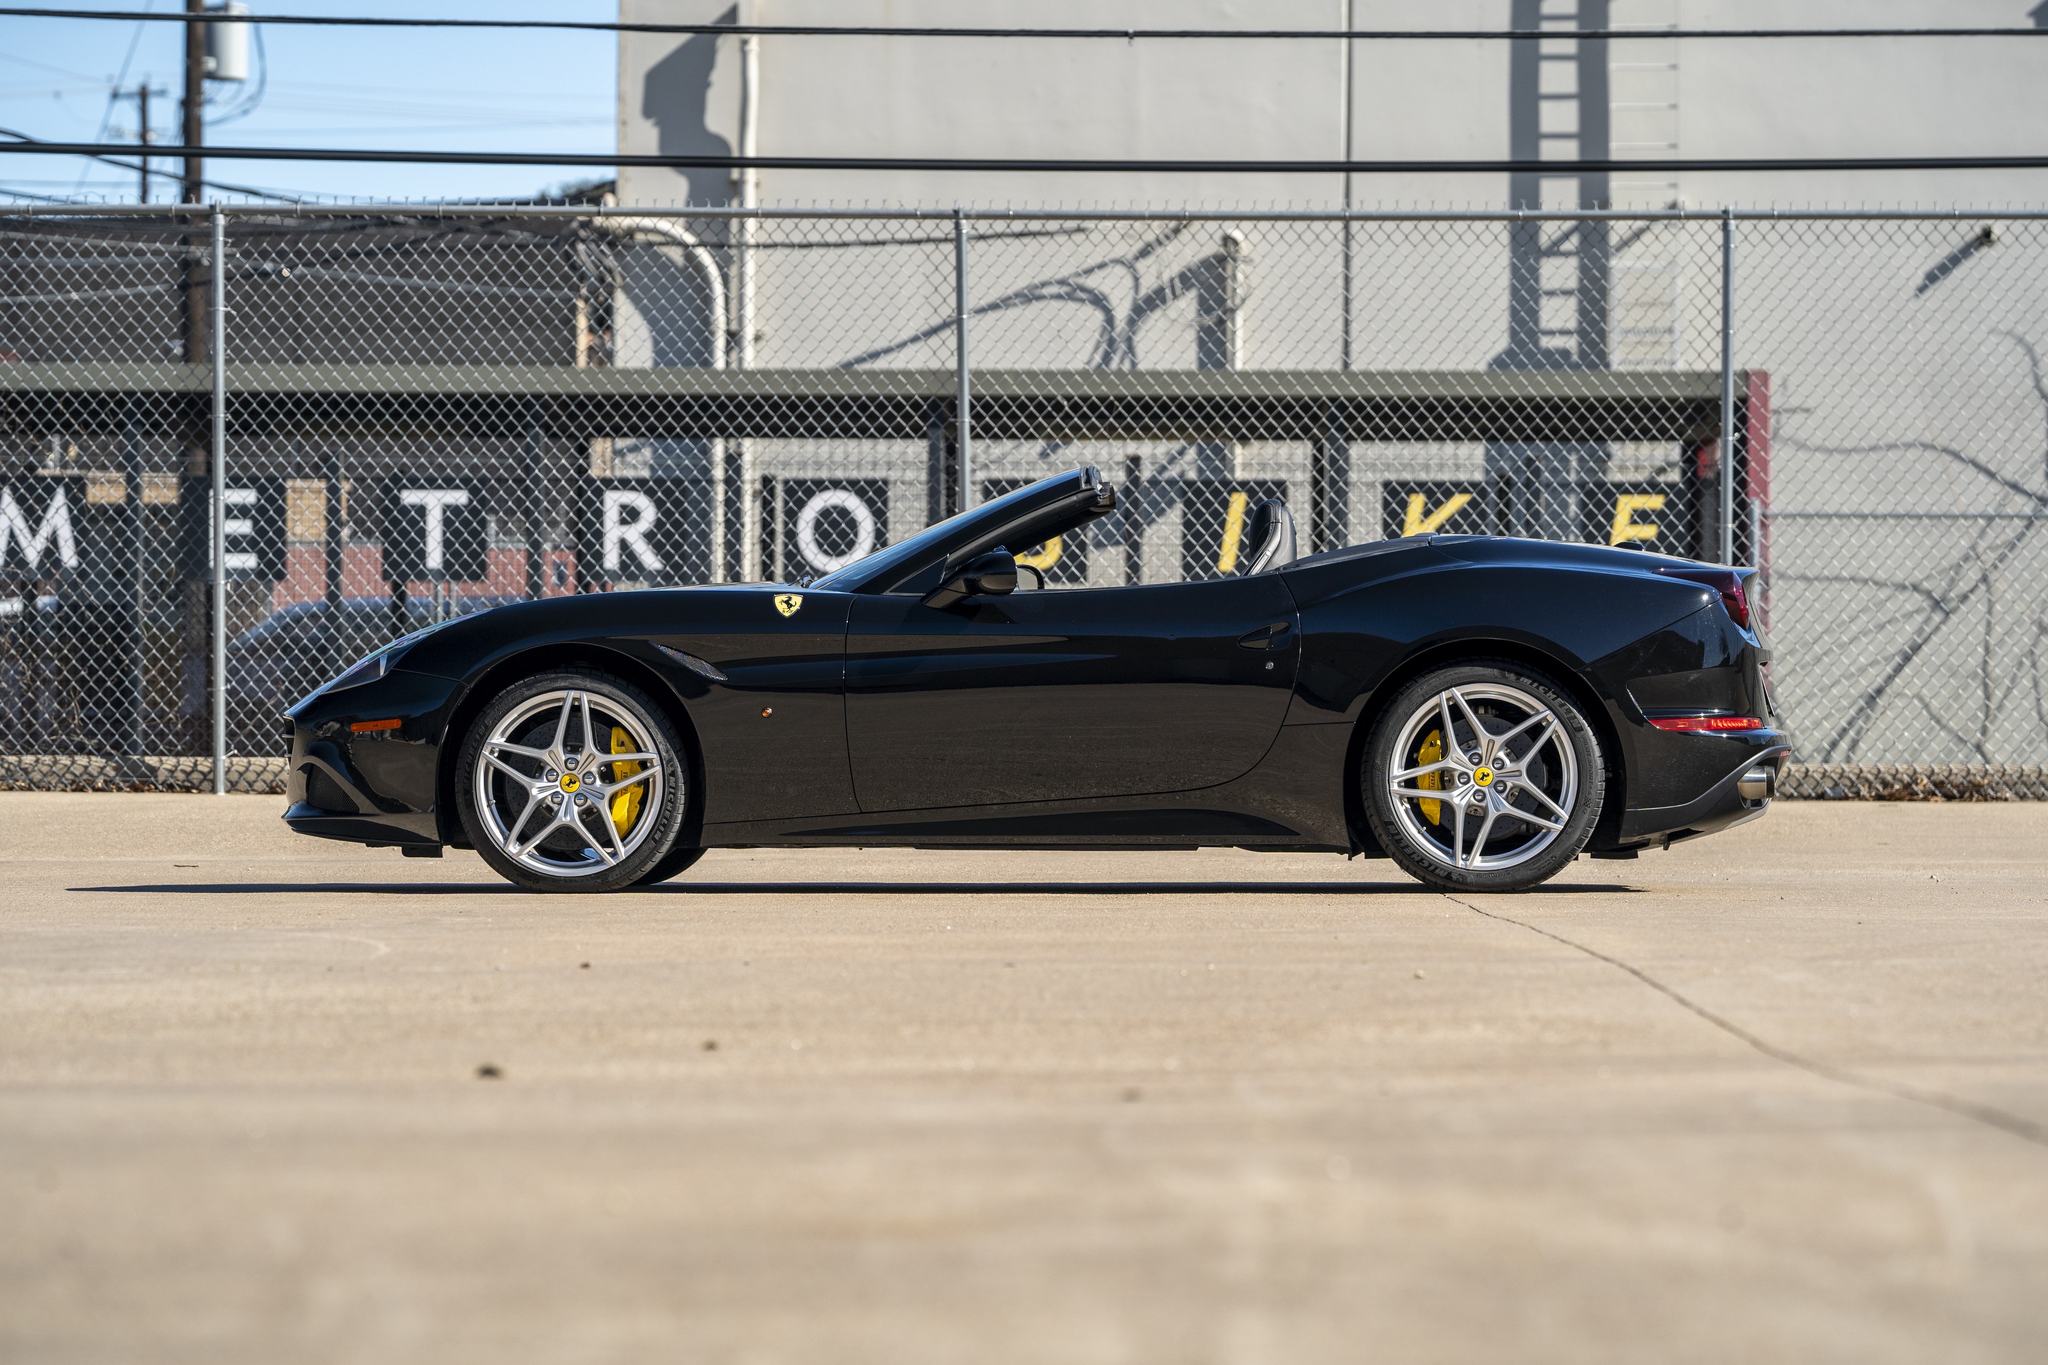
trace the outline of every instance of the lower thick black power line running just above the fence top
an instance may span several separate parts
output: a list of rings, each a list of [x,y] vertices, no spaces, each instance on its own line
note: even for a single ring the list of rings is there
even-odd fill
[[[18,133],[16,133],[18,137]],[[0,153],[133,156],[127,143],[18,141]],[[932,172],[1120,172],[1120,174],[1540,174],[1581,176],[1616,170],[1667,172],[1817,172],[1817,170],[2048,170],[2048,156],[1864,156],[1864,158],[1645,158],[1640,162],[1106,162],[1073,158],[915,158],[915,156],[621,156],[614,151],[399,151],[356,147],[150,147],[150,156],[209,156],[238,162],[410,162],[426,166],[649,166],[670,170],[932,170]]]

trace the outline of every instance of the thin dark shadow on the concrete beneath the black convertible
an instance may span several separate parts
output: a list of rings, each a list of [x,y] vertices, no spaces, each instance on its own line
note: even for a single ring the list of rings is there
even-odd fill
[[[190,896],[530,896],[510,882],[147,882],[76,892]],[[1524,894],[1636,894],[1636,886],[1550,882]],[[559,892],[557,892],[559,894]],[[573,892],[571,892],[573,894]],[[668,882],[649,896],[1434,896],[1421,882]]]

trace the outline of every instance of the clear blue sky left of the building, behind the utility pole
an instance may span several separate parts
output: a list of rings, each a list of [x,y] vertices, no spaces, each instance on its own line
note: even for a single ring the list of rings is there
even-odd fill
[[[182,10],[182,0],[68,0],[68,8]],[[397,0],[252,0],[256,14],[420,14]],[[449,18],[616,18],[614,0],[436,0]],[[268,84],[246,117],[213,125],[221,145],[436,147],[459,151],[610,151],[616,145],[614,33],[492,29],[266,27]],[[0,18],[0,127],[45,141],[135,141],[135,100],[109,100],[143,78],[156,141],[176,141],[182,25]],[[252,63],[256,53],[252,49]],[[227,106],[250,86],[213,86]],[[176,162],[160,162],[176,170]],[[362,166],[207,162],[211,180],[303,199],[530,196],[608,176],[575,166]],[[0,199],[133,201],[135,172],[80,158],[0,153]],[[158,201],[172,196],[168,184]],[[223,194],[236,199],[233,194]]]

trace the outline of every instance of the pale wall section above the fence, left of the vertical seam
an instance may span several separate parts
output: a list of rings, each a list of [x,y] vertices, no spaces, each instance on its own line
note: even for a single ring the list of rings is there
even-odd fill
[[[1331,0],[766,0],[754,23],[1032,27],[1331,27]],[[629,20],[717,23],[719,0],[621,0]],[[621,35],[621,149],[727,149],[739,139],[735,39]],[[764,156],[1337,158],[1337,43],[764,39]],[[1329,176],[997,176],[778,172],[778,203],[1325,203]],[[723,172],[627,172],[627,203],[723,203]]]

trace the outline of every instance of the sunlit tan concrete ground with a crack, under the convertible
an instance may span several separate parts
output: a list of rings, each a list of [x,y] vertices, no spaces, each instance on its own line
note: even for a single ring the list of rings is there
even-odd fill
[[[2036,1361],[2048,804],[1530,896],[0,796],[4,1361]]]

